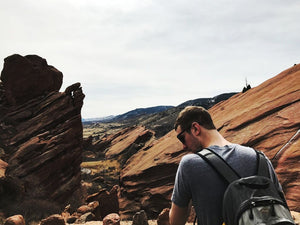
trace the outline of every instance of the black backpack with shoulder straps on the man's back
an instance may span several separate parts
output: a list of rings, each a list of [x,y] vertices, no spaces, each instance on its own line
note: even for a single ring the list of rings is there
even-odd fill
[[[229,184],[223,196],[223,221],[226,225],[295,225],[283,193],[269,178],[265,155],[256,153],[257,175],[244,178],[213,151],[197,153]]]

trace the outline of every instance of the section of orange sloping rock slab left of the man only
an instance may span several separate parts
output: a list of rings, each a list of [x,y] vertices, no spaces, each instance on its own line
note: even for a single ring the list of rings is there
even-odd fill
[[[120,174],[120,211],[124,219],[130,219],[141,210],[149,218],[170,206],[170,197],[178,162],[185,154],[170,132],[133,155]]]

